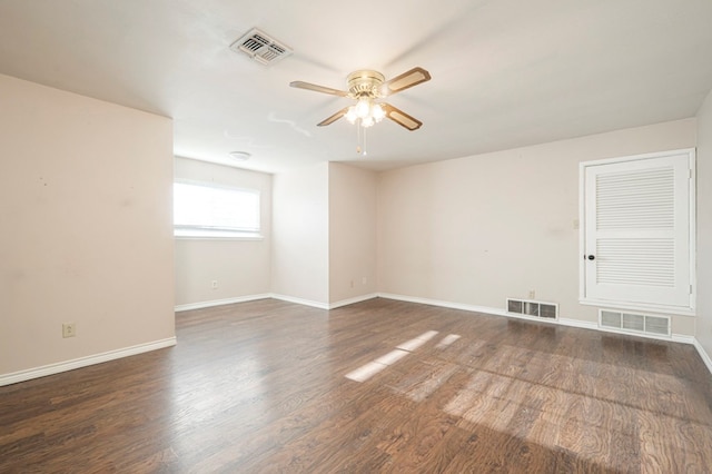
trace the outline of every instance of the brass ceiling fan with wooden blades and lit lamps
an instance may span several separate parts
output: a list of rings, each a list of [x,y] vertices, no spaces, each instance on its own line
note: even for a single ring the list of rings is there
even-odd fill
[[[389,103],[379,102],[378,100],[428,80],[431,80],[431,73],[423,68],[413,68],[389,80],[385,80],[384,75],[380,72],[363,69],[347,76],[346,86],[348,91],[303,81],[289,82],[289,86],[356,100],[355,105],[345,107],[322,120],[317,124],[319,127],[334,124],[342,117],[346,117],[349,122],[367,128],[387,117],[408,130],[417,130],[423,125],[421,120]]]

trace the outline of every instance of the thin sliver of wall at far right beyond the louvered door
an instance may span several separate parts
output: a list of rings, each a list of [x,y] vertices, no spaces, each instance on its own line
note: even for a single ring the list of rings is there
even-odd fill
[[[712,357],[712,92],[698,113],[698,316],[695,337]]]

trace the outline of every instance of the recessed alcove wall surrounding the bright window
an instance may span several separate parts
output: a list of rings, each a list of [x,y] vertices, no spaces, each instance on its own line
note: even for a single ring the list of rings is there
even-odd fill
[[[260,240],[176,239],[176,306],[270,292],[271,175],[176,158],[176,179],[260,191]],[[212,288],[212,280],[218,287]]]

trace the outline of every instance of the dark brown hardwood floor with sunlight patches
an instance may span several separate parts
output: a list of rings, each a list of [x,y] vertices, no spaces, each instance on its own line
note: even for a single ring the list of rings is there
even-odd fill
[[[712,471],[689,345],[388,299],[176,319],[176,347],[0,387],[0,472]]]

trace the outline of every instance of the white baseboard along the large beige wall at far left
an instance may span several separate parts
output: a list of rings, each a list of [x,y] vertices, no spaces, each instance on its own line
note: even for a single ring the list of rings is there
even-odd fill
[[[139,344],[131,347],[123,347],[121,349],[109,350],[101,354],[95,354],[87,357],[79,357],[72,361],[59,362],[56,364],[43,365],[41,367],[34,367],[27,371],[13,372],[10,374],[0,375],[0,386],[17,384],[18,382],[26,382],[32,378],[46,377],[48,375],[59,374],[61,372],[73,371],[76,368],[87,367],[89,365],[101,364],[105,362],[113,361],[117,358],[128,357],[137,354],[147,353],[150,350],[162,349],[176,345],[176,338],[169,337],[167,339],[154,340],[152,343]]]

